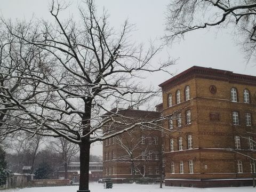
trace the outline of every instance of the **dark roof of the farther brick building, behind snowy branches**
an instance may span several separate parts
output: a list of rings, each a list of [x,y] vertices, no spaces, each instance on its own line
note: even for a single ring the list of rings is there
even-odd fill
[[[112,115],[113,113],[121,114],[126,117],[138,117],[138,118],[149,118],[149,119],[157,118],[160,115],[158,111],[146,111],[146,110],[138,110],[138,109],[131,109],[131,108],[130,109],[119,108],[117,111],[117,108],[113,108],[109,112],[103,114],[102,117]]]

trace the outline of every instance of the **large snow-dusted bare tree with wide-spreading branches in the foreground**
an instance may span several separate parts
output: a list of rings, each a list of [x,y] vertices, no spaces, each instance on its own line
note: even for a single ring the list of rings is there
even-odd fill
[[[146,50],[130,42],[133,25],[125,21],[121,31],[115,31],[109,26],[106,12],[98,17],[93,2],[84,3],[85,9],[79,6],[79,21],[61,21],[59,15],[67,6],[55,2],[50,7],[54,23],[33,19],[12,23],[2,18],[2,30],[15,39],[11,45],[22,44],[23,49],[38,54],[23,69],[13,69],[10,63],[5,66],[14,70],[11,75],[5,72],[5,79],[20,79],[22,86],[19,94],[13,94],[7,83],[1,86],[0,103],[6,105],[0,112],[8,119],[1,121],[1,130],[5,134],[24,130],[33,135],[63,137],[79,145],[78,191],[89,191],[91,143],[159,121],[116,121],[113,116],[119,114],[110,112],[102,122],[101,114],[108,111],[110,102],[135,107],[146,103],[159,92],[139,83],[142,73],[166,71],[172,64],[150,63],[162,46],[150,45]],[[102,133],[102,126],[110,121],[125,124],[126,129]]]

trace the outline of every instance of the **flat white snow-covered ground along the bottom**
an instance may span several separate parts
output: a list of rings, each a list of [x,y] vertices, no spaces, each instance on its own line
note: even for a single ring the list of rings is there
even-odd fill
[[[7,189],[1,192],[76,192],[78,186],[65,187],[34,187],[23,189]],[[159,185],[139,185],[139,184],[114,184],[112,189],[104,189],[101,183],[91,183],[91,192],[255,192],[253,187],[226,187],[226,188],[188,188],[188,187],[165,187]]]

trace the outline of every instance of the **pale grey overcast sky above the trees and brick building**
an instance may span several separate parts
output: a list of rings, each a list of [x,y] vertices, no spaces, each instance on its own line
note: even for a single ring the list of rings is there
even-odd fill
[[[77,1],[73,4],[66,17],[77,14]],[[95,0],[98,12],[105,7],[109,14],[110,25],[119,29],[125,19],[136,25],[134,41],[148,42],[149,39],[161,38],[164,32],[164,18],[168,0]],[[47,0],[0,0],[0,11],[4,18],[30,19],[33,13],[37,18],[51,19]],[[64,17],[65,15],[63,15]],[[246,65],[241,47],[236,46],[235,39],[228,30],[198,30],[185,36],[185,40],[164,49],[155,62],[164,60],[170,55],[177,60],[177,65],[170,69],[178,74],[192,66],[212,67],[256,76],[253,62]],[[169,74],[148,76],[154,86],[171,78]],[[102,147],[93,147],[92,154],[102,155]]]

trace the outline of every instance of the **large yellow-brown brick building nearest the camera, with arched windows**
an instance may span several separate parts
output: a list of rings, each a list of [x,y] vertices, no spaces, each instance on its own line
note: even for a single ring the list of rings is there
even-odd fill
[[[191,67],[159,85],[165,122],[165,185],[252,185],[256,77]]]

